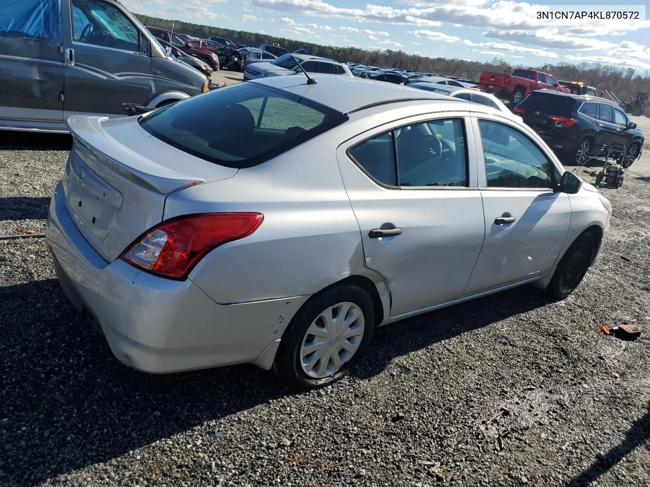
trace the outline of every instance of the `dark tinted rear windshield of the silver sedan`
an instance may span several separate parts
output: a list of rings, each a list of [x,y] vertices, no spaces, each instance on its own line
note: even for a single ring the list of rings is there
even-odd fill
[[[140,118],[140,125],[177,149],[240,169],[274,158],[346,119],[298,95],[245,82],[155,110]]]

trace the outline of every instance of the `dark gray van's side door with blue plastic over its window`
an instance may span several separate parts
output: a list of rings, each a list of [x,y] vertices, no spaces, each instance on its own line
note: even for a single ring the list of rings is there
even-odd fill
[[[21,0],[0,9],[0,119],[62,121],[59,3]]]

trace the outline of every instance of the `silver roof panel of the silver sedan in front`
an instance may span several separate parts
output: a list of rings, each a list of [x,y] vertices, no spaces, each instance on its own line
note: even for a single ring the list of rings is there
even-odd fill
[[[467,109],[465,103],[469,103],[461,99],[450,99],[447,95],[437,95],[393,83],[312,73],[310,73],[309,77],[316,79],[317,84],[307,84],[304,75],[274,76],[246,82],[265,84],[272,88],[304,96],[341,113],[350,113],[367,106],[400,101],[440,100],[446,103],[458,103],[461,110]],[[341,93],[344,96],[341,96]],[[460,105],[462,105],[462,108]],[[476,110],[476,108],[473,106],[472,110]]]

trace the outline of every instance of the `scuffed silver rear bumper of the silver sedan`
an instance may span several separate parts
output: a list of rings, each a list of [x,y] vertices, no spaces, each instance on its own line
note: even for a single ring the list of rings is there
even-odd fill
[[[47,244],[59,282],[79,311],[101,327],[123,364],[168,373],[263,362],[308,296],[218,305],[194,282],[172,281],[120,259],[107,262],[68,214],[62,185],[52,198]],[[271,357],[272,360],[272,357]]]

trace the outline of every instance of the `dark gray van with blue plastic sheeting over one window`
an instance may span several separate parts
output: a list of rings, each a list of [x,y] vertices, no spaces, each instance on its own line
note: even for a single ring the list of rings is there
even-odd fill
[[[126,116],[209,90],[117,0],[0,1],[0,129],[67,132],[75,114]]]

